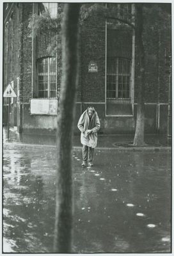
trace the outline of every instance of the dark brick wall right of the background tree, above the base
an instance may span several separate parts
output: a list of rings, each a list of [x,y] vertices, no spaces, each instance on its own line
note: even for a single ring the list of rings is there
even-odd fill
[[[145,102],[168,102],[165,48],[171,47],[170,17],[160,9],[144,9]],[[161,13],[160,13],[161,12]],[[137,40],[137,38],[136,38]],[[135,101],[138,97],[138,49],[136,42]]]

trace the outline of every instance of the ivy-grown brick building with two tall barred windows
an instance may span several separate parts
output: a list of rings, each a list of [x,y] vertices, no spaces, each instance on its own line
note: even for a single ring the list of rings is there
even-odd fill
[[[127,17],[134,14],[134,4],[115,5],[118,17],[123,18],[125,13]],[[50,134],[56,129],[61,51],[52,55],[49,51],[51,32],[48,30],[46,36],[42,33],[33,36],[29,19],[32,14],[40,15],[44,10],[49,10],[55,19],[58,8],[57,3],[4,3],[3,88],[10,83],[17,94],[17,98],[11,100],[10,125],[17,126],[18,132],[24,134]],[[165,74],[164,54],[170,47],[170,28],[161,29],[158,33],[162,35],[160,40],[148,29],[146,26],[149,40],[145,40],[145,132],[166,133],[168,76]],[[87,106],[93,106],[100,117],[100,132],[133,133],[138,94],[138,52],[134,29],[114,19],[106,19],[97,12],[89,15],[81,23],[79,56],[75,132],[81,113]],[[4,124],[6,103],[4,99]]]

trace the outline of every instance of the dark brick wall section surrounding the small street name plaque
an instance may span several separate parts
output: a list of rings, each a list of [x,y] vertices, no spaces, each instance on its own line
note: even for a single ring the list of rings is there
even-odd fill
[[[105,20],[93,15],[81,28],[81,98],[83,102],[105,100]],[[90,61],[95,61],[98,72],[88,72]]]

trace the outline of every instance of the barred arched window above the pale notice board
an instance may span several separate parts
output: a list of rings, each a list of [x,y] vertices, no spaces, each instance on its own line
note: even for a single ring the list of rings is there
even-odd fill
[[[38,98],[56,98],[56,58],[38,60]]]

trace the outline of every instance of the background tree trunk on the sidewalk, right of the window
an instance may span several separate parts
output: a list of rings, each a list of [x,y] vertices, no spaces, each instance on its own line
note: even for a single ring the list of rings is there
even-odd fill
[[[138,109],[136,120],[136,132],[134,146],[145,145],[145,50],[143,45],[143,4],[136,4],[136,39],[138,42],[139,55],[139,87],[138,87]]]

